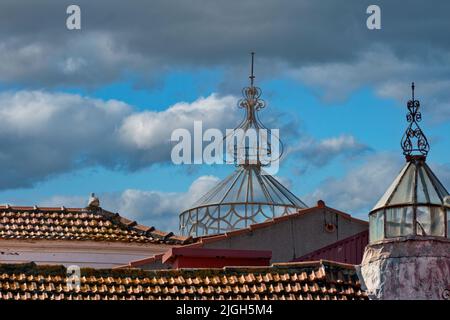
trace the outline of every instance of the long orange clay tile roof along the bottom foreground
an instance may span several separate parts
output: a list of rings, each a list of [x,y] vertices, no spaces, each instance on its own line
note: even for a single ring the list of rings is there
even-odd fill
[[[0,264],[0,300],[350,300],[367,299],[354,266],[329,261],[221,269],[81,269]]]

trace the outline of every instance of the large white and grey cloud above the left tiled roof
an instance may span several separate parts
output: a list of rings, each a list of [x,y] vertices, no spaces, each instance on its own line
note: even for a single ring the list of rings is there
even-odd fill
[[[172,130],[189,130],[198,120],[204,128],[233,127],[235,101],[213,94],[160,112],[138,112],[121,101],[77,94],[1,93],[0,189],[95,165],[135,170],[168,162]]]

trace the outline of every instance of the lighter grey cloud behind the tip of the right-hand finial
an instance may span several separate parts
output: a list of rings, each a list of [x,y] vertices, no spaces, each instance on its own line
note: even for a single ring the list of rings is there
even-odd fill
[[[420,60],[420,61],[419,61]],[[289,71],[293,78],[320,89],[326,101],[343,100],[355,90],[373,86],[383,98],[404,105],[411,98],[411,82],[416,97],[435,121],[450,119],[450,53],[436,52],[422,59],[397,56],[384,46],[371,46],[353,61],[312,64]]]

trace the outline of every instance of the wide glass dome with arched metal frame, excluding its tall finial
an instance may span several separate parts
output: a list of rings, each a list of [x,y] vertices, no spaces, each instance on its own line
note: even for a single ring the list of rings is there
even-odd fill
[[[304,208],[303,201],[260,166],[239,166],[180,214],[179,228],[184,236],[219,234]]]

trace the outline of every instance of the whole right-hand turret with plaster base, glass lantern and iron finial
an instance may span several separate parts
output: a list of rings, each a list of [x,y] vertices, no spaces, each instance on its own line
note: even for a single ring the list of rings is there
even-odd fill
[[[407,107],[406,164],[369,214],[361,279],[372,299],[448,299],[448,192],[425,162],[430,146],[414,83]]]

